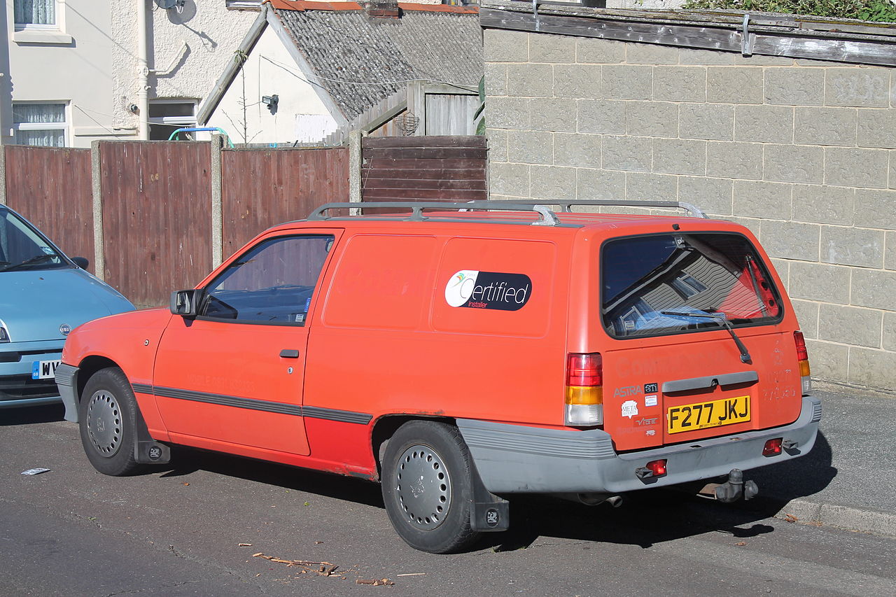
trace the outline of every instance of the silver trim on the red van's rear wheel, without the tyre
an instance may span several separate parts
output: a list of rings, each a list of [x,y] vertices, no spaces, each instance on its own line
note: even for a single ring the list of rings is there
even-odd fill
[[[394,487],[401,514],[421,531],[444,522],[451,506],[451,477],[433,448],[410,446],[399,457]]]

